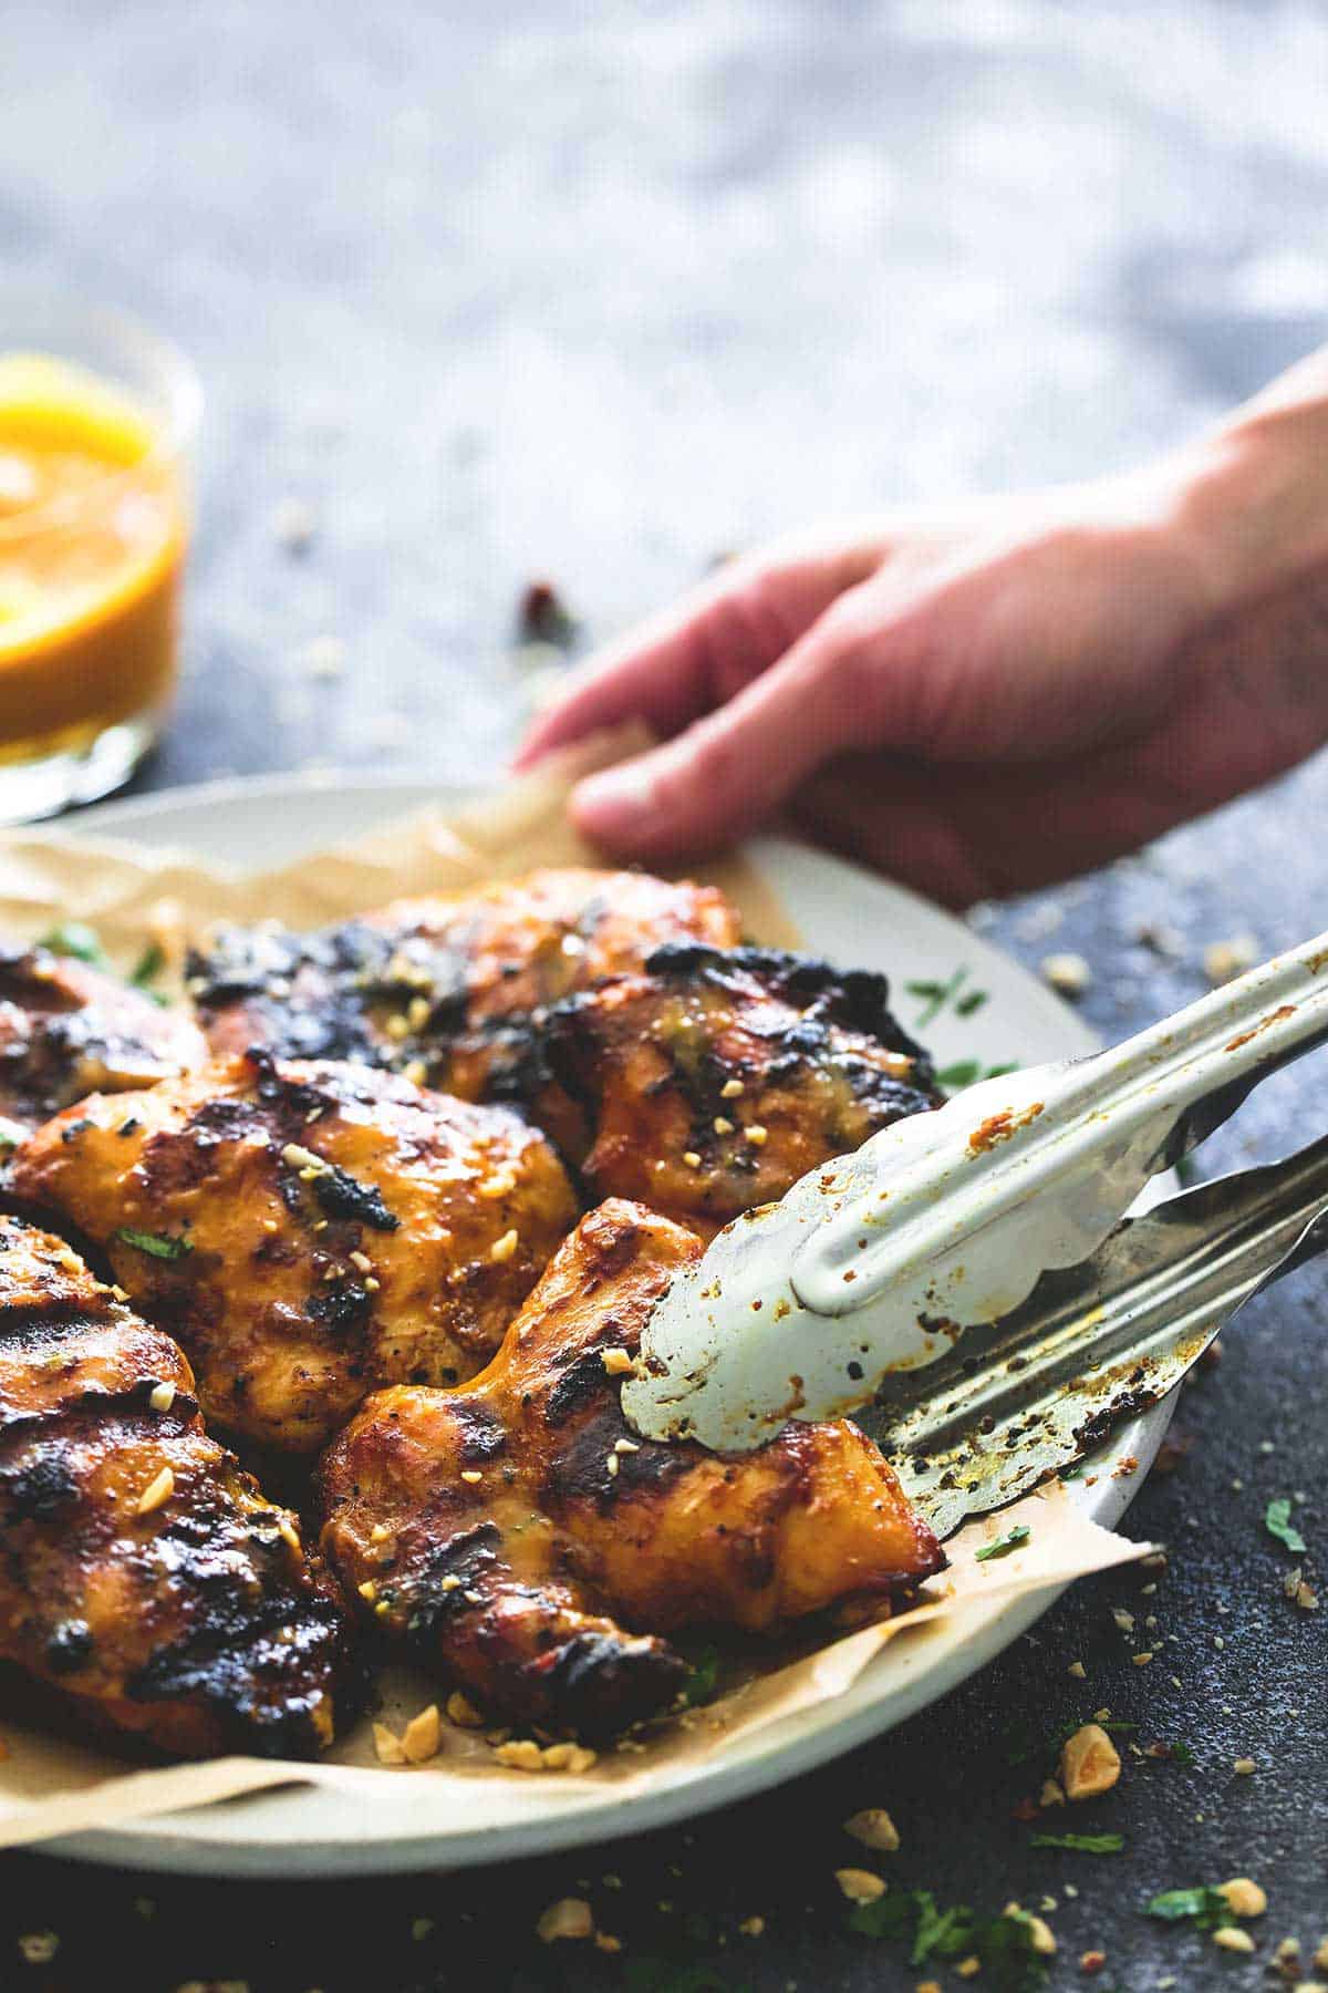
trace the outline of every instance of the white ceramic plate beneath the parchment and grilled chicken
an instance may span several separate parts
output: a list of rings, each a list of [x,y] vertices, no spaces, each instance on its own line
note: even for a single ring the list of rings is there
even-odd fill
[[[253,867],[285,863],[436,801],[460,797],[422,781],[263,777],[108,803],[68,827]],[[960,1058],[1033,1064],[1095,1050],[1087,1026],[1041,983],[912,893],[780,837],[757,839],[749,855],[810,951],[894,979],[906,1026],[920,1010],[918,998],[904,993],[906,981],[944,981],[964,965],[968,987],[988,991],[972,1016],[948,1008],[928,1026],[938,1066]],[[1169,1405],[1155,1407],[1115,1435],[1111,1451],[1135,1455],[1141,1473],[1119,1481],[1103,1473],[1093,1487],[1075,1485],[1075,1499],[1095,1521],[1113,1525],[1125,1511],[1169,1415]],[[1009,1646],[1051,1600],[1043,1592],[1003,1608],[974,1608],[926,1640],[900,1642],[834,1702],[735,1742],[649,1798],[617,1798],[581,1780],[504,1780],[472,1786],[462,1812],[450,1782],[338,1770],[331,1788],[257,1794],[115,1834],[80,1834],[52,1848],[181,1873],[348,1875],[460,1867],[637,1834],[784,1784],[904,1722]]]

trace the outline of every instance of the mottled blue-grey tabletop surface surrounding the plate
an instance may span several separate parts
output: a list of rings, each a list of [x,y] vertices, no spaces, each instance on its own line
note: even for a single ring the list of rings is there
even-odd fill
[[[205,379],[185,686],[141,785],[311,763],[474,781],[561,668],[516,642],[532,578],[585,648],[776,528],[1163,450],[1328,337],[1328,8],[0,0],[0,295],[18,275],[117,301]],[[1207,943],[1322,925],[1326,809],[1320,755],[978,919],[1031,965],[1081,951],[1083,1008],[1121,1036],[1205,987]],[[1308,1140],[1326,1104],[1294,1068],[1209,1166]],[[299,1891],[10,1857],[0,1985],[18,1933],[52,1925],[32,1993],[104,1985],[108,1957],[135,1993],[912,1993],[926,1973],[852,1935],[832,1881],[856,1851],[840,1822],[880,1804],[892,1875],[942,1903],[1053,1893],[1053,1989],[1254,1993],[1288,1935],[1310,1977],[1328,1612],[1288,1604],[1262,1517],[1304,1497],[1324,1590],[1326,1272],[1254,1303],[1185,1391],[1177,1471],[1127,1519],[1173,1551],[1157,1596],[1081,1586],[900,1732],[613,1850]],[[1157,1666],[1129,1664],[1121,1604],[1157,1614]],[[1037,1764],[1097,1706],[1195,1762],[1131,1760],[1069,1822],[1123,1832],[1121,1855],[1035,1851],[1011,1818],[1041,1776],[1027,1738]],[[1230,1772],[1244,1754],[1254,1778]],[[1250,1959],[1141,1915],[1236,1873],[1272,1897]],[[583,1889],[621,1959],[534,1941]]]

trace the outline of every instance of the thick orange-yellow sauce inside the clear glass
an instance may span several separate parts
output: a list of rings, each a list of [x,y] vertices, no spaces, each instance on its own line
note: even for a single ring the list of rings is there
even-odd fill
[[[165,706],[185,540],[153,415],[64,361],[0,355],[0,763]]]

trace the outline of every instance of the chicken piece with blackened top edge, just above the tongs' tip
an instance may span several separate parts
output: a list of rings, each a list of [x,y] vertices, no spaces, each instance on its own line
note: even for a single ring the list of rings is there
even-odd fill
[[[761,949],[657,949],[557,1004],[544,1056],[538,1118],[591,1198],[705,1238],[942,1098],[884,977]]]

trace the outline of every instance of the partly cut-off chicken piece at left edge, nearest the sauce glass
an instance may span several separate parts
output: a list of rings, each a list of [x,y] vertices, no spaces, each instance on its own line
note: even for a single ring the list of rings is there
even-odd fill
[[[0,943],[0,1134],[12,1142],[72,1100],[191,1072],[197,1024],[102,969]]]

